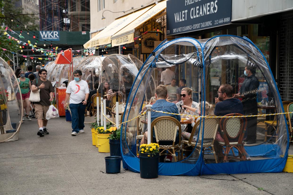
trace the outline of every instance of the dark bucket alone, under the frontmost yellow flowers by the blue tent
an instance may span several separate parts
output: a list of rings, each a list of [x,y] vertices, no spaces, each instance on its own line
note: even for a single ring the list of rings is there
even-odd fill
[[[139,152],[140,177],[144,179],[157,178],[159,175],[159,153],[153,157],[147,153]]]

